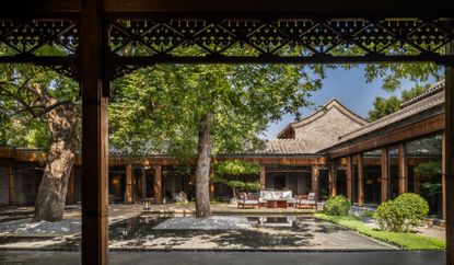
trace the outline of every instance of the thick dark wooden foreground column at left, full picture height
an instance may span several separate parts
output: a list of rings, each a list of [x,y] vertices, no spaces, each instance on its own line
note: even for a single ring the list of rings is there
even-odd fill
[[[80,15],[82,90],[82,264],[108,264],[107,94],[103,73],[103,1],[84,0]],[[107,88],[104,88],[107,89]]]

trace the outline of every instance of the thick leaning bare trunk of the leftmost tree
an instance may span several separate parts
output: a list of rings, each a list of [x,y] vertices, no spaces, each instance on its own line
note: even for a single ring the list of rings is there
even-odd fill
[[[60,105],[46,114],[46,120],[51,146],[36,195],[34,221],[59,221],[63,219],[68,181],[75,160],[80,106],[72,103]]]

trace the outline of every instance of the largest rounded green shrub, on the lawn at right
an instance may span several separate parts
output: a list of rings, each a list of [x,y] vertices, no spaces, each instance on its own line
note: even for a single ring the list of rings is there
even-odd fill
[[[414,193],[399,195],[379,206],[374,218],[382,230],[409,232],[411,228],[429,214],[429,205],[424,198]]]

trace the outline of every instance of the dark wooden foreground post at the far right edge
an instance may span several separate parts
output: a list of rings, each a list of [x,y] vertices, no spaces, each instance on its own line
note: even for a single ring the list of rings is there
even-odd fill
[[[454,28],[451,28],[454,31]],[[446,54],[454,55],[454,42],[446,45]],[[446,264],[454,265],[454,62],[445,72],[445,187],[446,187]]]

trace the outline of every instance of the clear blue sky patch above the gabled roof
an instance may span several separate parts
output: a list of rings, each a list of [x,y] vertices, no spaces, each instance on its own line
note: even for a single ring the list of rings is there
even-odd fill
[[[381,85],[381,79],[376,79],[371,83],[365,82],[363,66],[351,70],[337,68],[327,71],[327,77],[323,81],[323,88],[314,92],[310,100],[315,103],[315,106],[321,106],[330,99],[336,97],[352,112],[366,117],[368,112],[373,108],[373,102],[376,96],[400,95],[403,90],[410,89],[414,87],[414,83],[403,80],[401,87],[392,93],[383,90]],[[313,108],[301,108],[302,116],[306,116],[312,112],[314,112]],[[278,132],[293,120],[293,115],[284,115],[280,122],[269,124],[268,130],[260,137],[276,139]]]

